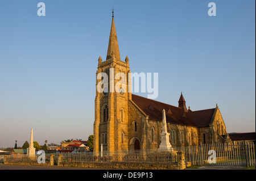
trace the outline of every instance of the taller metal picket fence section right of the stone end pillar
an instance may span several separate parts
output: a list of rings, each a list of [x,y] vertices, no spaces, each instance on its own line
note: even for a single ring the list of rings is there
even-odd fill
[[[241,145],[204,144],[182,146],[175,150],[185,152],[185,161],[192,165],[246,165],[255,166],[255,145],[243,142]]]

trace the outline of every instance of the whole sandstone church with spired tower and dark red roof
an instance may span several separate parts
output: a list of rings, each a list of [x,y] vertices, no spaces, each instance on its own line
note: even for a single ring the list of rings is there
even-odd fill
[[[106,60],[98,58],[98,73],[110,76],[130,73],[129,58],[121,60],[114,15],[110,29]],[[96,79],[96,85],[101,79]],[[110,81],[110,80],[109,80]],[[115,83],[118,80],[113,80]],[[127,83],[128,84],[128,83]],[[109,92],[96,90],[95,120],[93,125],[94,151],[123,151],[158,149],[162,133],[163,110],[166,112],[167,132],[172,147],[226,142],[226,126],[220,110],[215,108],[192,111],[185,104],[181,93],[177,106],[147,99],[126,91]]]

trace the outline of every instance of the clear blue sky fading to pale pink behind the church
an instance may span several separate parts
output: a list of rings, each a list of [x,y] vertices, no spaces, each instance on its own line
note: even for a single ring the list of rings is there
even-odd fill
[[[178,106],[182,91],[193,111],[217,103],[228,132],[255,132],[254,0],[1,0],[0,148],[22,146],[31,128],[40,145],[93,134],[112,7],[121,59],[159,74],[156,100]]]

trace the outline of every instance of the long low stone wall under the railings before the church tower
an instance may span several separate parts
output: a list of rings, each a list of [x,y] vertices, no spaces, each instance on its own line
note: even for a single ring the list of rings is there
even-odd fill
[[[179,170],[177,163],[137,163],[137,162],[61,162],[63,167],[86,167],[100,169],[135,169],[135,170]]]

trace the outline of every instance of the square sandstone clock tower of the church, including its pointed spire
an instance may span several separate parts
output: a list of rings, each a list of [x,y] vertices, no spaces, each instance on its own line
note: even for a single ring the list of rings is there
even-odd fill
[[[120,58],[114,15],[106,60],[98,58],[94,120],[94,151],[128,150],[129,58]]]

